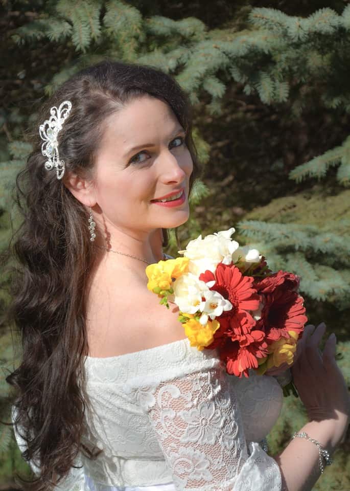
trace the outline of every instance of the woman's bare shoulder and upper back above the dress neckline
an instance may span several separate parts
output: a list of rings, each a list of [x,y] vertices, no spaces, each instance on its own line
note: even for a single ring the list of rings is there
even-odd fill
[[[118,356],[184,339],[178,307],[167,309],[159,300],[130,276],[92,283],[86,316],[90,356]]]

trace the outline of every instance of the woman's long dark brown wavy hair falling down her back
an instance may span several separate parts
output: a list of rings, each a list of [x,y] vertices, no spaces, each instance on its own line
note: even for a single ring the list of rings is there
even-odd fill
[[[188,96],[158,69],[108,60],[64,82],[42,106],[33,151],[16,179],[15,199],[23,221],[10,245],[18,267],[9,320],[21,336],[22,360],[7,382],[16,389],[14,424],[27,444],[23,456],[40,468],[40,475],[28,484],[35,491],[57,485],[79,451],[94,457],[81,440],[88,404],[81,384],[88,354],[86,294],[95,257],[88,213],[55,170],[44,168],[38,127],[52,106],[72,102],[58,135],[59,153],[66,170],[86,176],[93,169],[106,118],[143,95],[169,104],[184,128],[194,165],[191,190],[199,168]],[[165,229],[163,237],[166,246]]]

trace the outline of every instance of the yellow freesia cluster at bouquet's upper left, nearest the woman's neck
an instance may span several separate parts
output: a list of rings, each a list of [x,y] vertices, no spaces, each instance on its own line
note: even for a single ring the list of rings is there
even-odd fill
[[[146,267],[147,288],[158,297],[164,296],[172,288],[172,278],[178,278],[188,272],[189,261],[188,257],[178,257],[149,264]]]

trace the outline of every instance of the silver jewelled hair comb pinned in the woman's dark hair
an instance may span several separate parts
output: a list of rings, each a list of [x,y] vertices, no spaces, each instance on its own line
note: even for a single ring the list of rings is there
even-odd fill
[[[60,160],[58,153],[58,132],[62,129],[63,122],[69,116],[69,112],[72,109],[72,103],[70,101],[64,101],[57,109],[56,106],[52,106],[50,109],[50,119],[46,119],[39,126],[39,134],[44,142],[41,145],[41,153],[44,157],[48,157],[45,162],[45,169],[52,170],[56,167],[57,179],[61,179],[64,174],[64,161]]]

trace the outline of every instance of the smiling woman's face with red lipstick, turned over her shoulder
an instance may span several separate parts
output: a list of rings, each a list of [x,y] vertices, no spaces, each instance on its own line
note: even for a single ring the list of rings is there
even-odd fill
[[[108,118],[93,183],[108,229],[141,237],[188,220],[193,162],[184,137],[170,106],[152,97],[133,100]],[[173,203],[155,201],[181,191],[184,198]]]

